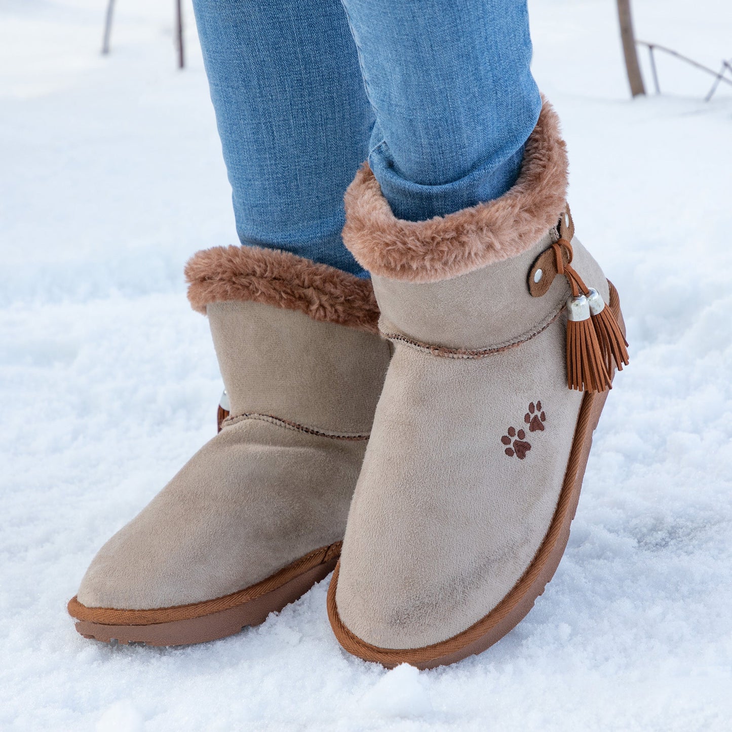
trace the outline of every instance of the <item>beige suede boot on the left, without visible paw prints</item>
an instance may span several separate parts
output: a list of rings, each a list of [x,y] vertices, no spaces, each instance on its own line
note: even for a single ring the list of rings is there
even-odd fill
[[[186,268],[230,414],[99,551],[69,602],[87,638],[153,646],[239,632],[335,566],[389,361],[368,280],[216,247]]]

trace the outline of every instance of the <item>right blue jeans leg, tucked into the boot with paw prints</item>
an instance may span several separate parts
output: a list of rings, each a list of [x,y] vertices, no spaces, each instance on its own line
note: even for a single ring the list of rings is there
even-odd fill
[[[397,218],[498,198],[541,99],[526,0],[343,0],[376,113],[369,163]]]

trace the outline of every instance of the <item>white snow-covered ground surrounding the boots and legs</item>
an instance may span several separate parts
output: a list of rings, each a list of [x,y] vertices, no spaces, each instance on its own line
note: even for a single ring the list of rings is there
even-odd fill
[[[172,2],[0,0],[0,728],[728,729],[732,717],[732,96],[663,61],[630,102],[612,0],[534,0],[534,70],[564,120],[578,234],[616,283],[616,380],[569,547],[480,657],[349,657],[326,583],[234,638],[102,646],[65,602],[97,548],[212,436],[220,378],[184,296],[234,242],[206,81]],[[724,0],[635,0],[638,36],[717,67]]]

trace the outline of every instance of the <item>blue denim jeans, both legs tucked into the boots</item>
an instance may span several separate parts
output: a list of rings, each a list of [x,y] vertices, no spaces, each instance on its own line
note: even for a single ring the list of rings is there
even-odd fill
[[[193,0],[242,244],[368,276],[343,193],[397,217],[505,193],[541,100],[526,0]]]

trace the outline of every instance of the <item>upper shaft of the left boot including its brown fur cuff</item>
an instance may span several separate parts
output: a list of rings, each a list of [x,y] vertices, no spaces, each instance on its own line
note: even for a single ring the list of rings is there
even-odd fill
[[[369,280],[255,247],[199,252],[186,277],[209,317],[232,419],[368,435],[389,365]]]

